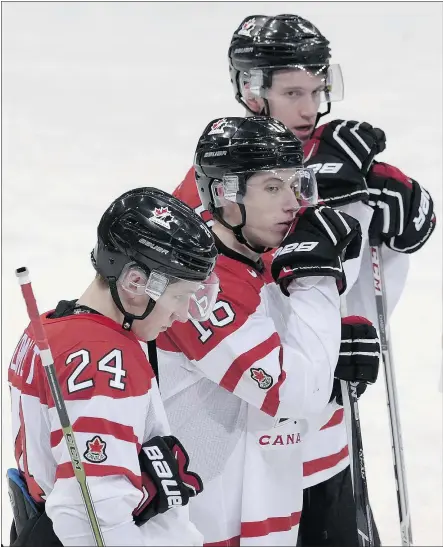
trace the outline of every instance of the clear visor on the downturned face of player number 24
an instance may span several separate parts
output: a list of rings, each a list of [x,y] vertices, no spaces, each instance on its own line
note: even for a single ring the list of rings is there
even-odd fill
[[[148,275],[136,263],[124,267],[118,284],[132,295],[152,298],[156,306],[181,321],[207,321],[219,291],[219,280],[214,272],[205,281],[189,281],[156,270]],[[146,303],[141,303],[142,307],[146,305],[147,298]]]

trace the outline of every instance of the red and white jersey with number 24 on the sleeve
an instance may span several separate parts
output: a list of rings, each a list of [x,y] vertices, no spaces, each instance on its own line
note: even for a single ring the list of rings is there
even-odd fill
[[[141,445],[170,433],[145,344],[102,315],[49,314],[43,324],[105,544],[201,545],[187,507],[140,528],[133,522],[143,498]],[[63,545],[95,545],[30,326],[8,380],[15,458],[31,496],[45,502]]]

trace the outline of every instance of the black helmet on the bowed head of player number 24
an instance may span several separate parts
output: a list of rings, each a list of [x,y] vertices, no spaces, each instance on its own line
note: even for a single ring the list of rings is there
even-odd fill
[[[109,283],[114,302],[125,322],[144,319],[123,309],[116,282],[125,266],[135,264],[146,276],[155,272],[151,288],[160,296],[168,280],[205,281],[217,257],[212,233],[186,204],[157,188],[137,188],[117,198],[105,211],[97,229],[92,264]],[[151,293],[146,290],[151,296]]]

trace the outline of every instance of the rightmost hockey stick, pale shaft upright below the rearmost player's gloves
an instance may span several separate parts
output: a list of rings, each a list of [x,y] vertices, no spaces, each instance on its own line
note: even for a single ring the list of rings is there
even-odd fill
[[[383,260],[380,247],[372,246],[370,249],[372,273],[374,277],[375,305],[377,309],[381,352],[385,369],[386,395],[391,430],[392,456],[394,459],[394,475],[397,488],[398,513],[400,517],[401,543],[402,545],[412,545],[411,517],[409,513],[408,489],[406,485],[406,471],[403,457],[400,413],[398,410],[397,384],[395,381],[388,326]]]

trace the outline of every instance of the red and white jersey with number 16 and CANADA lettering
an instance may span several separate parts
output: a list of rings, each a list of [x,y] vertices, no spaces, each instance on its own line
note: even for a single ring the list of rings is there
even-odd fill
[[[328,404],[340,348],[336,283],[292,282],[287,298],[240,255],[221,254],[215,271],[210,320],[157,340],[166,413],[204,484],[190,518],[207,545],[295,545],[302,438]]]

